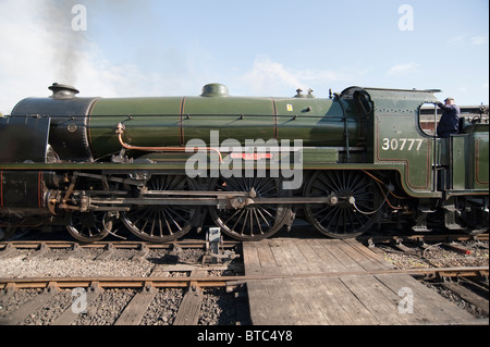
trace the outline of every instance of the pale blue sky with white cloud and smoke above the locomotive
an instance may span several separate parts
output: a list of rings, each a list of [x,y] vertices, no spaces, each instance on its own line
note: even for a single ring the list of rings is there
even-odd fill
[[[442,89],[489,103],[488,0],[0,0],[0,112],[48,97],[328,97]]]

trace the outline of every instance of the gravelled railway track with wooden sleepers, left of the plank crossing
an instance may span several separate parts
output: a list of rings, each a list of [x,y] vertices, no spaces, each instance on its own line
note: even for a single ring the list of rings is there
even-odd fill
[[[243,295],[235,299],[235,293],[226,293],[219,276],[243,272],[243,265],[233,261],[237,245],[221,243],[217,258],[209,241],[196,239],[166,245],[139,241],[90,245],[32,240],[2,243],[0,261],[4,267],[11,267],[10,273],[17,278],[5,278],[5,272],[0,275],[4,280],[0,285],[0,325],[235,323],[236,314],[221,314],[228,310],[220,305],[228,302],[233,308],[240,307]],[[28,269],[21,271],[24,265]],[[197,285],[196,276],[209,277]],[[86,301],[94,302],[91,309],[89,305],[88,313],[70,313],[71,305],[77,298],[72,298],[72,293],[82,293]],[[240,288],[236,296],[238,293]],[[29,300],[24,301],[26,296]],[[168,309],[162,311],[162,308]],[[109,312],[103,313],[105,309]],[[145,311],[148,311],[146,318],[140,315]],[[51,314],[42,318],[47,312]]]

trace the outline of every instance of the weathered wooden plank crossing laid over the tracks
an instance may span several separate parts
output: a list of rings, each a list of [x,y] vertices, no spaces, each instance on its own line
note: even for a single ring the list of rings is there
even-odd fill
[[[369,273],[393,267],[356,240],[266,239],[243,243],[243,252],[246,275],[275,275],[247,282],[254,325],[475,321],[411,275]]]

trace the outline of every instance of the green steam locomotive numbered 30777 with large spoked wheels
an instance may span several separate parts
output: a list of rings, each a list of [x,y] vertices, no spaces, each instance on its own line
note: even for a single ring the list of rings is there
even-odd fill
[[[196,97],[105,99],[49,89],[0,117],[0,239],[65,227],[91,243],[124,227],[164,243],[212,220],[259,240],[296,216],[336,238],[383,225],[488,231],[488,121],[463,117],[460,134],[437,138],[440,90],[252,98],[209,84]]]

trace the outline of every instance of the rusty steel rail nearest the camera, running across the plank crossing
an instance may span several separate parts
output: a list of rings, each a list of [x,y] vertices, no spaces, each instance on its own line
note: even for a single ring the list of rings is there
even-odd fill
[[[199,287],[223,287],[240,285],[250,281],[273,281],[273,280],[302,280],[318,277],[341,277],[362,275],[400,275],[408,274],[414,276],[486,276],[488,277],[488,267],[469,268],[420,268],[420,269],[389,269],[375,271],[343,271],[343,272],[319,272],[304,274],[271,274],[271,275],[236,275],[236,276],[209,276],[209,277],[48,277],[48,278],[0,278],[0,289],[7,288],[75,288],[90,287],[97,285],[102,288],[168,288],[188,287],[189,285]]]

